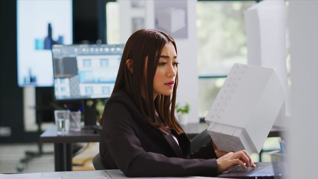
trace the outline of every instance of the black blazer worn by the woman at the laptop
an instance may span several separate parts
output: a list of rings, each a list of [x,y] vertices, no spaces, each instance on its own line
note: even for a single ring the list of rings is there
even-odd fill
[[[216,176],[212,142],[190,153],[183,133],[163,135],[142,117],[131,98],[118,91],[105,104],[100,155],[106,169],[120,169],[127,176]]]

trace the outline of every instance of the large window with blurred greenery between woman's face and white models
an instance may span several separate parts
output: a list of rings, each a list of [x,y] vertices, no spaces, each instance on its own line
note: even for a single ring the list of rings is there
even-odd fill
[[[247,62],[244,10],[256,1],[197,2],[199,116],[205,118],[234,63]]]

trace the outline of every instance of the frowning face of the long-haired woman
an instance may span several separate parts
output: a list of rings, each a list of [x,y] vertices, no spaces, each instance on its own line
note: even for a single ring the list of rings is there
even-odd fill
[[[153,99],[158,94],[171,95],[177,74],[177,54],[171,42],[165,44],[153,77]]]

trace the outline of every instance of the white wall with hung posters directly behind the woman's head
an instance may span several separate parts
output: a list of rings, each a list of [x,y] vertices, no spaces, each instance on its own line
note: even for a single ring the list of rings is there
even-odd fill
[[[163,1],[163,0],[161,0]],[[125,43],[132,33],[131,18],[145,17],[145,28],[154,28],[154,1],[146,1],[145,8],[131,8],[130,1],[120,0],[120,30],[121,43]],[[169,1],[166,1],[169,3]],[[197,36],[196,36],[196,1],[188,3],[188,38],[175,38],[179,60],[179,85],[177,102],[188,102],[191,110],[189,123],[199,122],[198,112],[198,71],[197,71]]]

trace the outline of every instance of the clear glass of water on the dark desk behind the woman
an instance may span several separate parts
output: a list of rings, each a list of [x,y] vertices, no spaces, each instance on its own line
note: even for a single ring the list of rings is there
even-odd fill
[[[70,111],[54,110],[57,135],[65,135],[70,131]]]

